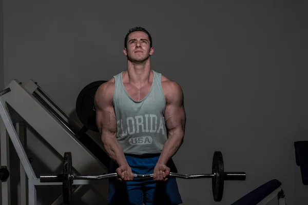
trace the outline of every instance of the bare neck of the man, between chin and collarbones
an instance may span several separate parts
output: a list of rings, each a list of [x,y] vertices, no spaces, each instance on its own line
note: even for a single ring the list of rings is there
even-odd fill
[[[127,75],[130,83],[136,84],[136,86],[143,86],[144,84],[149,82],[150,74],[151,67],[148,60],[146,60],[142,64],[135,64],[131,61],[128,61]]]

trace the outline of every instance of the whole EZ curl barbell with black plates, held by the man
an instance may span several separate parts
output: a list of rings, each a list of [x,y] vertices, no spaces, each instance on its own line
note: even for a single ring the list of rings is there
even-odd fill
[[[41,182],[62,182],[63,202],[64,204],[70,204],[72,197],[72,185],[73,180],[102,180],[109,178],[119,177],[117,173],[103,174],[98,176],[78,176],[73,175],[72,171],[72,155],[71,152],[64,153],[63,172],[61,174],[41,174]],[[153,174],[133,174],[134,178],[151,179]],[[225,172],[222,153],[220,151],[214,152],[212,162],[211,174],[194,174],[186,175],[170,172],[168,177],[177,177],[182,179],[200,179],[211,178],[212,179],[212,191],[215,201],[221,201],[223,196],[223,188],[225,180],[246,180],[245,172]]]

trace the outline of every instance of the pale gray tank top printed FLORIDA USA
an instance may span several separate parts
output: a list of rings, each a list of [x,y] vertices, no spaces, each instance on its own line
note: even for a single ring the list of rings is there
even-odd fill
[[[151,89],[140,101],[133,100],[127,93],[122,73],[113,76],[117,138],[125,154],[161,153],[167,140],[164,118],[166,101],[161,85],[161,73],[153,73]]]

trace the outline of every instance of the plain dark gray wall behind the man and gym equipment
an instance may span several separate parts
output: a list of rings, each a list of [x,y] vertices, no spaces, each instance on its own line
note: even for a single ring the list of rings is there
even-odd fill
[[[145,27],[155,47],[152,69],[185,94],[186,137],[174,157],[179,172],[210,173],[220,150],[227,171],[247,174],[246,181],[225,183],[220,204],[273,178],[287,204],[304,204],[308,187],[293,147],[308,138],[303,2],[5,0],[4,81],[34,79],[71,114],[84,86],[126,69],[124,36]],[[40,146],[30,147],[35,160]],[[216,204],[210,180],[178,183],[184,204]]]

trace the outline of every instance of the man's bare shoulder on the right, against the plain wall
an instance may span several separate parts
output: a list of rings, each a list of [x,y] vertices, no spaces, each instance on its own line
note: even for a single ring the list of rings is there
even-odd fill
[[[181,86],[176,82],[168,79],[162,75],[162,88],[167,100],[167,103],[171,100],[182,100],[183,90]]]

